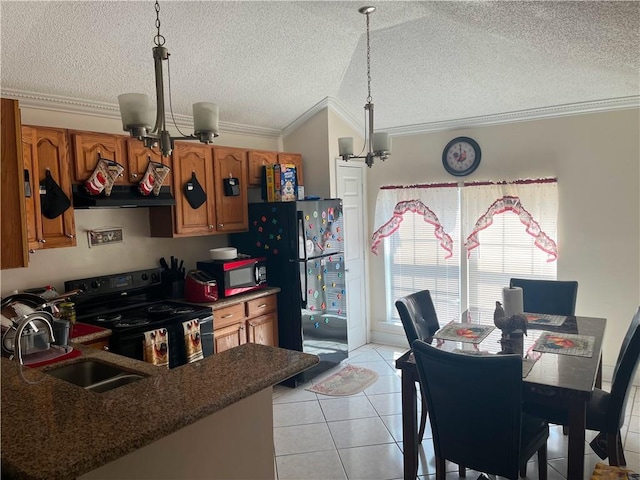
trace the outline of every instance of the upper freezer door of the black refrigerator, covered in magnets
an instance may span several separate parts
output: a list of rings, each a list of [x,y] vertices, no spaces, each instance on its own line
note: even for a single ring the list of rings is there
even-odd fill
[[[344,250],[342,200],[296,202],[298,258],[306,260]]]

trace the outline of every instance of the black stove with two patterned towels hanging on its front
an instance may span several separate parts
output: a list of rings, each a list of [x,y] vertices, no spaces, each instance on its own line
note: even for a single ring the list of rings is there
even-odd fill
[[[78,322],[112,331],[109,350],[144,359],[145,332],[166,329],[169,368],[186,362],[183,323],[198,320],[205,357],[213,354],[213,310],[166,300],[162,296],[162,269],[138,270],[65,282],[65,291],[81,289],[73,297]]]

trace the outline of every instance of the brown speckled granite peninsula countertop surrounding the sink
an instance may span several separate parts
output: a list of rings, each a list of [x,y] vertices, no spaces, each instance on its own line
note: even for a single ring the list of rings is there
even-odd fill
[[[318,363],[315,355],[247,343],[168,370],[74,347],[81,358],[24,368],[35,384],[0,359],[3,478],[75,478]],[[43,373],[87,358],[149,377],[95,393]]]

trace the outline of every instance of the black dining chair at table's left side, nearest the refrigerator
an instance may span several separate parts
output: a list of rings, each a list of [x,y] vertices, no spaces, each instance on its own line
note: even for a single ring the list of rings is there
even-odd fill
[[[396,300],[396,309],[400,315],[404,333],[409,341],[409,346],[414,340],[422,340],[431,343],[433,335],[440,328],[436,309],[431,300],[429,290],[421,290],[406,297]],[[418,430],[418,442],[422,442],[424,430],[427,425],[427,404],[422,398],[422,413],[420,415],[420,428]]]

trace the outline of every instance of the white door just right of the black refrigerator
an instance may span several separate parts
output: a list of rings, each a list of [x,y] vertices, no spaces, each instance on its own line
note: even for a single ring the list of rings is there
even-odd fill
[[[344,212],[344,255],[349,351],[367,343],[364,164],[336,161],[338,198]]]

